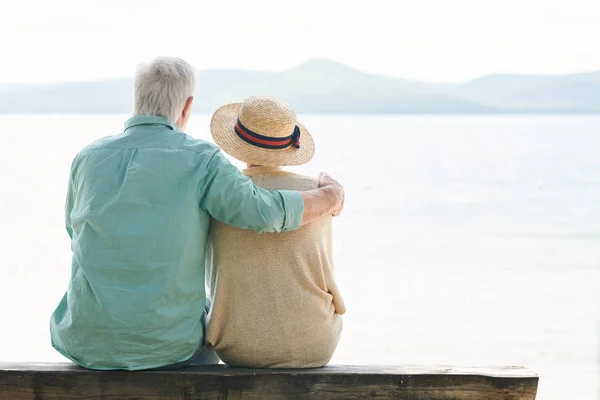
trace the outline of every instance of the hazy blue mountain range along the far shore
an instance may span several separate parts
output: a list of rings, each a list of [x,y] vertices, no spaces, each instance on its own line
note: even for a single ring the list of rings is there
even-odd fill
[[[132,86],[131,79],[0,85],[0,113],[128,113]],[[490,75],[439,85],[315,59],[284,72],[202,71],[194,110],[212,113],[258,94],[285,100],[300,113],[600,113],[600,72]]]

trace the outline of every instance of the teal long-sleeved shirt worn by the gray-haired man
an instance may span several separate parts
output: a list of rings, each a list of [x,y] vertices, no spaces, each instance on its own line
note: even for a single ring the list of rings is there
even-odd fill
[[[73,160],[71,281],[51,318],[52,345],[92,369],[189,359],[204,339],[209,217],[282,232],[303,212],[300,193],[255,186],[213,144],[162,117],[131,118]]]

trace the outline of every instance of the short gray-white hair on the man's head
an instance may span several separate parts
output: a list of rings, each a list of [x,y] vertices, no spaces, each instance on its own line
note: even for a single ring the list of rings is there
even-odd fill
[[[196,92],[196,70],[185,60],[158,57],[138,66],[133,115],[158,115],[176,122]]]

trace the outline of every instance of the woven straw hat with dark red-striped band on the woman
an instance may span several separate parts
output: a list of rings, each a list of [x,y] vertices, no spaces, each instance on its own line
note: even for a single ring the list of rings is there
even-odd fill
[[[248,164],[300,165],[315,154],[312,136],[294,110],[272,97],[249,97],[219,108],[210,133],[223,151]]]

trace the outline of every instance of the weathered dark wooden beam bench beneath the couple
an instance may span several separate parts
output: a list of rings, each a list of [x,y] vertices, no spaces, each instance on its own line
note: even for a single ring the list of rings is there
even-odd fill
[[[72,364],[0,363],[0,399],[534,400],[522,367],[328,366],[264,370],[224,365],[175,371],[89,371]]]

